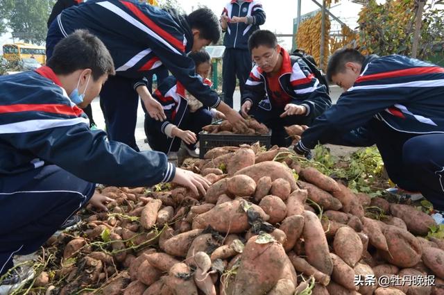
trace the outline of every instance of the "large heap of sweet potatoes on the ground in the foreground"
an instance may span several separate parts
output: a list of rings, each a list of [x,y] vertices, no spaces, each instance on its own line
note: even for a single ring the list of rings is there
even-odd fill
[[[282,157],[289,153],[259,144],[208,151],[189,168],[212,182],[205,196],[184,187],[148,194],[105,187],[110,212],[52,242],[69,240],[63,267],[40,285],[65,278],[49,294],[89,294],[76,293],[83,287],[107,295],[444,293],[444,240],[424,238],[431,217],[355,194]],[[375,207],[388,217],[368,217]],[[355,276],[392,275],[433,275],[436,286],[355,285]]]

